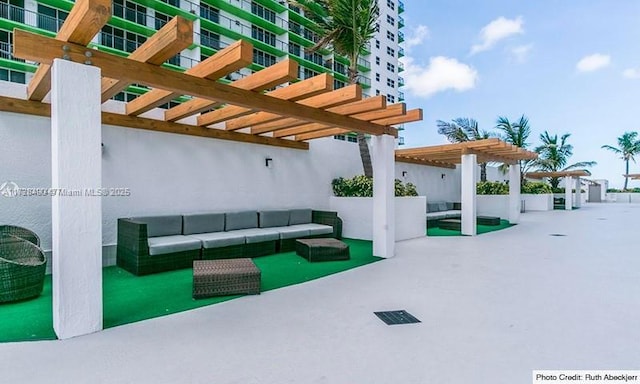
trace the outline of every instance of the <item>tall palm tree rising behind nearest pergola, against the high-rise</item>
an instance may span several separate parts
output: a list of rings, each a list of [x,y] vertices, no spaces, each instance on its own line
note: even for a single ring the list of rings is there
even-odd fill
[[[349,84],[358,82],[358,60],[374,34],[380,13],[377,0],[289,0],[320,29],[321,38],[307,49],[316,52],[326,47],[349,59]],[[373,177],[371,154],[364,133],[358,133],[358,147],[364,174]]]

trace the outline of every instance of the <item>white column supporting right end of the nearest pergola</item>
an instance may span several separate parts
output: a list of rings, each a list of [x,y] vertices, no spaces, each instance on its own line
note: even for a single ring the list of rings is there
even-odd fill
[[[373,136],[373,255],[395,254],[395,138]]]

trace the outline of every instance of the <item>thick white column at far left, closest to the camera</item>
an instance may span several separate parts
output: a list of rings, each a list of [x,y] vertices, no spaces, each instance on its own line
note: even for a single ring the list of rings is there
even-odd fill
[[[101,187],[100,105],[100,69],[56,59],[51,181],[66,194],[52,197],[53,328],[60,339],[102,329],[102,205],[85,193]]]

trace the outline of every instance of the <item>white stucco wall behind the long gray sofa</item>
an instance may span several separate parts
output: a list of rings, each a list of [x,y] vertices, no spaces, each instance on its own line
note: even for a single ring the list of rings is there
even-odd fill
[[[0,112],[0,184],[51,186],[50,119]],[[103,243],[119,217],[311,207],[329,208],[331,180],[362,173],[358,146],[313,140],[309,151],[103,126]],[[272,167],[265,158],[273,159]],[[77,159],[82,161],[82,159]],[[94,187],[94,186],[87,186]],[[0,196],[0,223],[25,226],[51,248],[51,198]]]

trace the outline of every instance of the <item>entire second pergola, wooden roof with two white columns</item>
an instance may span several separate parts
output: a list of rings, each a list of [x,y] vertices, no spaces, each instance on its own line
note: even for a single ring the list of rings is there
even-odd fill
[[[520,219],[520,160],[535,159],[538,154],[496,138],[421,148],[398,149],[397,162],[455,169],[461,164],[461,202],[463,235],[476,235],[476,180],[478,163],[509,164],[509,222]]]

